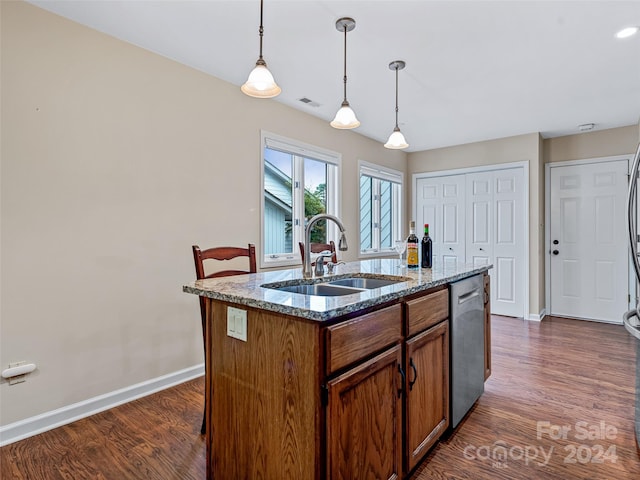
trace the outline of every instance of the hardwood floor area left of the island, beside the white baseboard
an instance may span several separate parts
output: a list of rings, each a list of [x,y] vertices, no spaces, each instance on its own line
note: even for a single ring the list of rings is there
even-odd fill
[[[204,377],[0,449],[2,480],[201,480]]]

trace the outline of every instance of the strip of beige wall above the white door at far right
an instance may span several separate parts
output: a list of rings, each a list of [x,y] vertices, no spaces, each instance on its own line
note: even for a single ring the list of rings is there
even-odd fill
[[[637,145],[637,125],[548,138],[544,141],[544,161],[551,163],[625,155],[635,152]]]

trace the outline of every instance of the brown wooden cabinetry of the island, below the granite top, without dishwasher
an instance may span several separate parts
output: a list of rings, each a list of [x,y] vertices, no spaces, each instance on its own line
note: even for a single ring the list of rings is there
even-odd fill
[[[331,325],[206,301],[208,479],[408,478],[448,428],[447,287]]]

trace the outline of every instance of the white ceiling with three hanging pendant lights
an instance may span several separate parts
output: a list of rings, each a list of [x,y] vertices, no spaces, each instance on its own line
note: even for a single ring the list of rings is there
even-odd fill
[[[258,57],[258,0],[30,3],[240,86]],[[330,121],[347,96],[357,132],[380,142],[394,126],[418,151],[541,132],[544,137],[637,124],[640,1],[266,0],[264,58],[276,101]],[[307,97],[318,107],[299,101]],[[269,101],[269,100],[255,100]]]

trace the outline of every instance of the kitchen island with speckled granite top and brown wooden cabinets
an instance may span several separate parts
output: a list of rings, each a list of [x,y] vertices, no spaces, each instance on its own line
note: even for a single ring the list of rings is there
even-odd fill
[[[449,427],[448,286],[489,268],[376,259],[185,285],[207,298],[207,478],[410,476]],[[354,278],[383,286],[290,291]]]

